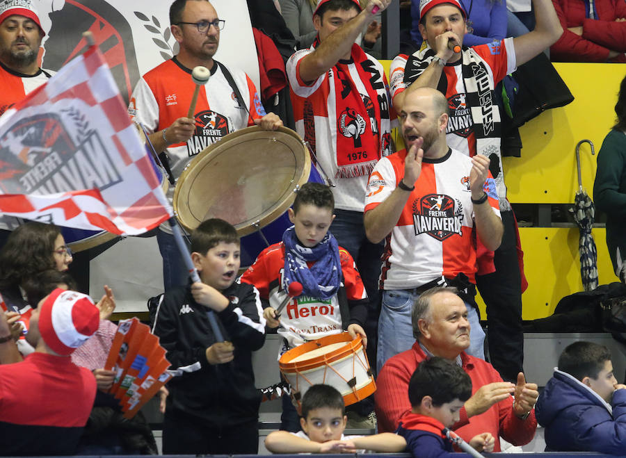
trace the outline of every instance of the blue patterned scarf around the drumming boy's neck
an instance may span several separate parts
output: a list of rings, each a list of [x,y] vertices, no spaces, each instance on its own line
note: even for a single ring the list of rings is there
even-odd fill
[[[282,288],[289,291],[292,281],[302,284],[303,295],[317,297],[321,300],[330,299],[342,278],[342,263],[339,260],[339,245],[335,236],[326,233],[320,243],[312,248],[300,245],[294,226],[282,234],[284,244],[284,275]],[[308,268],[307,262],[314,262]]]

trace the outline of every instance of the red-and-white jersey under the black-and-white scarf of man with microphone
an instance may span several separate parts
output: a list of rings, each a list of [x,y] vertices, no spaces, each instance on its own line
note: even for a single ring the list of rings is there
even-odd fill
[[[472,47],[472,49],[485,63],[490,79],[495,84],[499,83],[507,74],[515,72],[517,68],[513,38],[480,44]],[[400,54],[394,58],[390,67],[392,99],[417,79],[417,75],[405,74],[408,58],[406,54]],[[446,142],[452,149],[474,156],[476,154],[476,138],[472,132],[474,122],[470,108],[465,103],[465,82],[461,72],[462,60],[459,59],[455,63],[447,64],[443,69],[443,74],[447,80],[445,95],[450,110]]]

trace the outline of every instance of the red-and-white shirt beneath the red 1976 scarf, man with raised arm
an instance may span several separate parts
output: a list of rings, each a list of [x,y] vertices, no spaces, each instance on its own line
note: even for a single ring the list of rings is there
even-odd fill
[[[300,63],[303,58],[313,51],[313,47],[296,51],[289,58],[286,65],[289,86],[291,88],[291,104],[294,107],[294,118],[296,120],[296,131],[305,141],[309,142],[316,154],[319,165],[321,165],[321,169],[335,183],[335,188],[332,188],[332,193],[335,195],[335,208],[363,211],[363,196],[365,194],[365,186],[367,185],[367,174],[359,177],[335,177],[338,167],[333,139],[341,136],[342,133],[337,131],[337,122],[341,113],[337,113],[335,88],[331,88],[330,84],[329,74],[333,72],[333,69],[331,68],[310,83],[300,79]],[[387,83],[387,76],[385,76],[383,66],[380,65],[376,58],[369,56],[369,54],[366,54],[366,56],[369,58],[367,61],[370,65],[369,70],[372,72],[371,79],[367,81],[367,84],[383,83],[388,90],[389,83]],[[362,98],[369,100],[367,89],[364,82],[360,79],[360,74],[354,61],[340,60],[339,62],[348,66],[355,88]],[[387,118],[394,119],[395,114],[392,111],[391,100],[388,95],[383,97],[383,100],[371,102],[378,103],[381,112],[387,113]],[[365,122],[371,124],[372,131],[377,131],[380,128],[381,151],[362,152],[355,148],[351,154],[358,155],[358,159],[361,159],[363,153],[368,154],[370,157],[371,155],[378,157],[378,154],[381,156],[391,154],[391,127],[393,124],[372,118]],[[377,122],[380,126],[376,126]],[[312,134],[313,132],[314,134]]]

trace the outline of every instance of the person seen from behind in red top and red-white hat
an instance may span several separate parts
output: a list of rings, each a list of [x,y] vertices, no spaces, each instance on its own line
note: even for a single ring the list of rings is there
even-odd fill
[[[26,335],[35,352],[0,366],[0,455],[74,455],[96,381],[70,354],[98,324],[99,311],[87,295],[56,288],[39,302]],[[0,356],[11,345],[0,313]]]

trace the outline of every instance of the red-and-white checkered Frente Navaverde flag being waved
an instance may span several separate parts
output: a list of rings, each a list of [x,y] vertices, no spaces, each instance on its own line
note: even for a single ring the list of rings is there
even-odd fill
[[[172,215],[96,46],[0,117],[0,212],[130,236]]]

